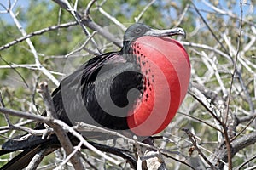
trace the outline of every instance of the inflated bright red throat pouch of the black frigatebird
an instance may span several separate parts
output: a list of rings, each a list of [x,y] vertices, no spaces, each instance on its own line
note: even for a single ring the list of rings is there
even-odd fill
[[[160,133],[172,121],[189,87],[189,55],[180,42],[168,37],[139,37],[133,54],[144,76],[143,98],[127,117],[138,136]]]

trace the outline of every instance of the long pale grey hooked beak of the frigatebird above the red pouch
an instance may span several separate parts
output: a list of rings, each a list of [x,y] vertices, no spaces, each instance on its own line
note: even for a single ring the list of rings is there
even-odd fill
[[[144,36],[154,36],[154,37],[172,37],[175,35],[182,35],[186,38],[186,32],[183,30],[183,28],[172,28],[168,30],[156,30],[156,29],[150,29],[148,30]]]

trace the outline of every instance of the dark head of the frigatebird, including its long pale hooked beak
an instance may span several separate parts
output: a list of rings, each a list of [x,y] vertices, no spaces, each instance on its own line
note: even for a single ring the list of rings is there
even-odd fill
[[[128,52],[131,42],[135,41],[138,37],[153,36],[153,37],[172,37],[175,35],[186,36],[183,28],[172,28],[166,30],[153,29],[143,23],[136,23],[127,28],[124,35],[123,51]]]

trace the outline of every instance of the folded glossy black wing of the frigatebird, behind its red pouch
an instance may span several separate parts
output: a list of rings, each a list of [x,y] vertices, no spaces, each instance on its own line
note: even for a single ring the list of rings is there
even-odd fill
[[[128,128],[126,116],[134,103],[130,99],[136,100],[140,93],[131,93],[131,98],[127,93],[131,88],[143,88],[139,68],[128,57],[134,56],[118,52],[96,56],[64,78],[53,93],[59,118],[69,125],[85,122],[111,129]]]

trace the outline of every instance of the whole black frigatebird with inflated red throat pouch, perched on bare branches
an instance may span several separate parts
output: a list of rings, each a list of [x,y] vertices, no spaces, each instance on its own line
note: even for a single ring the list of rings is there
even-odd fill
[[[123,48],[97,55],[61,81],[52,93],[58,118],[70,126],[85,122],[142,139],[160,133],[172,121],[189,86],[189,55],[181,43],[169,38],[174,35],[185,36],[185,31],[131,25]],[[38,123],[35,129],[43,128]],[[83,135],[100,139],[94,133]],[[0,155],[24,151],[1,169],[24,168],[39,150],[55,144],[55,135],[9,140]]]

